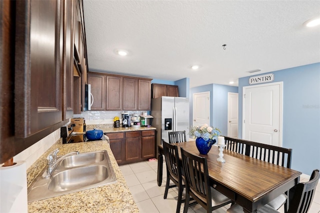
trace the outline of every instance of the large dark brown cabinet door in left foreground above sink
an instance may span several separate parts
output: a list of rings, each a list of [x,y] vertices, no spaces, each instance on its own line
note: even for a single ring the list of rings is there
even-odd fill
[[[60,6],[60,0],[16,1],[17,137],[27,137],[62,120]]]

